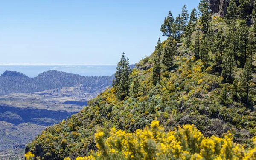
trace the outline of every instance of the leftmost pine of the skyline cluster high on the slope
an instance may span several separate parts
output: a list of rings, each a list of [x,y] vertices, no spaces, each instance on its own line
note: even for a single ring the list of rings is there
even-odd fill
[[[161,26],[161,31],[163,32],[163,36],[171,37],[173,34],[172,25],[174,23],[174,18],[172,16],[172,12],[169,11],[167,17],[165,17],[164,22]]]

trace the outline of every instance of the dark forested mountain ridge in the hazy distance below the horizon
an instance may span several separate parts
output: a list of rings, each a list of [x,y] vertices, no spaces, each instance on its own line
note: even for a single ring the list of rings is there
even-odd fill
[[[5,71],[0,76],[0,95],[11,93],[32,93],[49,89],[83,84],[84,91],[93,93],[102,87],[111,86],[112,76],[81,76],[73,73],[49,70],[30,78],[16,71]]]

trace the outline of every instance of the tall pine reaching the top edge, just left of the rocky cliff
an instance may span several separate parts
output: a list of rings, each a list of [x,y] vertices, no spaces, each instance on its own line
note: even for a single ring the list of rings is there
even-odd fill
[[[198,6],[200,22],[203,25],[202,31],[206,33],[209,28],[209,23],[211,21],[211,12],[209,8],[209,0],[201,0]]]

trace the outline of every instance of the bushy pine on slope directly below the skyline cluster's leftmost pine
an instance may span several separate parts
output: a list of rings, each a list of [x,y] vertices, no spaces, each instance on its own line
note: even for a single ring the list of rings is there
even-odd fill
[[[176,45],[174,42],[174,39],[168,39],[166,42],[166,46],[164,48],[164,54],[163,54],[163,64],[166,67],[173,67],[173,59],[174,56],[177,53]]]

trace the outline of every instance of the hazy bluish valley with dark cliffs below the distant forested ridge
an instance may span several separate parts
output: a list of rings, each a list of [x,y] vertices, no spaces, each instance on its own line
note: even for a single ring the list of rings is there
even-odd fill
[[[8,73],[10,75],[11,72]],[[12,72],[11,75],[14,76],[11,78],[15,79],[17,75],[22,74]],[[71,115],[78,113],[87,105],[87,101],[111,85],[110,82],[105,81],[106,84],[100,87],[95,86],[95,88],[85,84],[75,84],[70,87],[38,92],[1,95],[0,160],[22,159],[27,143],[41,134],[41,131],[47,126],[58,124],[63,119],[66,120]],[[43,85],[41,84],[41,86]]]

